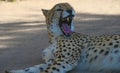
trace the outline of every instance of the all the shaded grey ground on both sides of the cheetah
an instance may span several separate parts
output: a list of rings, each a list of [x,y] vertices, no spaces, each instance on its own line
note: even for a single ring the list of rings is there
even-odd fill
[[[75,27],[89,35],[120,34],[120,15],[78,13]],[[0,41],[0,73],[43,62],[41,52],[49,44],[44,21],[0,23]]]

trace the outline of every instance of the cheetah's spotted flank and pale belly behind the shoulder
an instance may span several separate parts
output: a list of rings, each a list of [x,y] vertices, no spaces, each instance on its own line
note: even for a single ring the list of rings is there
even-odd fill
[[[120,71],[120,35],[83,38],[78,69],[81,71]]]

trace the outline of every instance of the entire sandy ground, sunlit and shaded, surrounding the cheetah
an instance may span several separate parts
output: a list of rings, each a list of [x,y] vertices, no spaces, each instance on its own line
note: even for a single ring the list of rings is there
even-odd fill
[[[68,2],[76,10],[76,31],[89,35],[120,34],[119,0],[31,0],[0,2],[0,73],[44,62],[49,45],[41,9]],[[73,70],[70,73],[79,73]]]

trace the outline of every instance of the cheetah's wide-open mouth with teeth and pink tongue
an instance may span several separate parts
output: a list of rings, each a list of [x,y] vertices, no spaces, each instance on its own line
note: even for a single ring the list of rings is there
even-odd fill
[[[60,19],[59,22],[60,29],[66,36],[70,36],[73,33],[73,31],[71,30],[72,20],[73,16],[68,16]]]

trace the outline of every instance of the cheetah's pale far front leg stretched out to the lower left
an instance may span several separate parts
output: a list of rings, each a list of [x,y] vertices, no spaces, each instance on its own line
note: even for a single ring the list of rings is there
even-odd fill
[[[35,65],[33,67],[29,67],[23,70],[6,71],[6,73],[40,73],[41,71],[46,69],[48,65],[53,63],[55,51],[56,51],[56,44],[52,44],[49,47],[45,48],[45,50],[43,51],[42,58],[45,60],[46,64]]]

